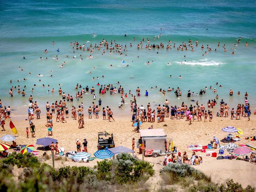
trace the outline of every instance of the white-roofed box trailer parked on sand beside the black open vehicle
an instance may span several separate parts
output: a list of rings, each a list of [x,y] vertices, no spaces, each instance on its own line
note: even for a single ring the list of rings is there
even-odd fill
[[[144,142],[145,156],[158,157],[171,150],[172,140],[166,138],[167,135],[163,129],[140,129],[139,133],[140,139],[137,146],[140,147],[141,140]]]

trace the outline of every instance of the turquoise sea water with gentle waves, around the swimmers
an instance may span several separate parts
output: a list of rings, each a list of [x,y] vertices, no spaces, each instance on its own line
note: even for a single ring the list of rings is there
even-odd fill
[[[57,91],[58,83],[66,94],[74,96],[76,83],[82,87],[97,87],[98,82],[117,87],[117,81],[120,81],[127,94],[129,90],[134,94],[137,86],[141,88],[142,95],[146,89],[149,91],[148,98],[138,98],[139,104],[158,104],[165,99],[173,105],[180,105],[182,101],[195,103],[190,99],[205,103],[215,97],[211,90],[208,89],[206,95],[198,98],[188,99],[186,93],[187,90],[199,93],[200,89],[211,85],[217,88],[217,94],[230,107],[244,103],[245,91],[249,93],[249,103],[253,108],[256,106],[254,1],[0,1],[0,17],[0,99],[4,105],[24,109],[22,114],[26,114],[28,97],[22,98],[17,94],[17,89],[13,91],[13,98],[9,97],[11,86],[20,85],[22,89],[26,85],[27,96],[34,88],[35,92],[31,94],[43,108],[46,101],[61,99],[57,92],[47,93],[52,88]],[[93,36],[92,33],[96,35]],[[160,38],[153,41],[152,38],[160,33]],[[241,42],[238,46],[233,46],[237,44],[239,37],[242,38]],[[148,38],[150,42],[143,41],[143,49],[137,50],[136,45],[143,38]],[[109,54],[108,51],[102,55],[101,49],[92,54],[93,59],[88,59],[89,52],[75,50],[73,54],[72,46],[69,45],[70,42],[78,41],[87,48],[89,44],[98,44],[102,39],[108,42],[115,40],[123,49],[127,45],[128,51],[123,52],[122,56],[117,53]],[[176,50],[182,42],[188,44],[189,39],[194,45],[194,52]],[[176,44],[172,50],[145,49],[146,44],[161,42],[166,47],[169,40],[172,41],[172,46]],[[195,46],[196,40],[199,41],[198,47]],[[52,41],[55,42],[54,45]],[[221,44],[219,47],[218,42]],[[248,47],[245,42],[249,43]],[[130,43],[132,47],[129,46]],[[204,50],[200,48],[202,44]],[[207,44],[212,49],[211,52],[206,49]],[[223,44],[226,44],[227,52],[223,52]],[[58,48],[60,52],[56,51]],[[215,48],[217,52],[214,51]],[[47,54],[44,53],[45,49],[48,50]],[[208,54],[202,57],[205,51]],[[230,54],[232,51],[235,52],[234,55]],[[83,61],[80,60],[80,54]],[[59,61],[52,59],[56,55]],[[76,59],[72,59],[74,55],[77,56]],[[43,59],[39,60],[40,57]],[[126,63],[122,64],[121,60]],[[180,65],[184,60],[187,61],[186,64]],[[63,61],[67,64],[59,68]],[[147,61],[151,65],[145,65]],[[167,66],[167,63],[171,65]],[[129,66],[125,67],[126,65]],[[92,69],[94,66],[96,69]],[[51,70],[53,77],[48,77]],[[88,73],[90,70],[92,74]],[[29,75],[29,72],[32,74]],[[37,77],[38,74],[43,74],[43,77]],[[105,76],[104,79],[101,78],[102,75]],[[172,78],[169,78],[170,75]],[[182,79],[178,78],[180,75]],[[96,79],[97,76],[100,79]],[[92,81],[93,77],[95,81]],[[22,81],[23,78],[28,80]],[[13,80],[12,84],[9,83],[10,79]],[[20,82],[17,82],[18,79]],[[216,82],[223,88],[216,87]],[[34,84],[37,86],[33,87]],[[43,84],[49,84],[50,87],[43,88]],[[158,89],[150,89],[155,86]],[[180,87],[183,94],[181,99],[178,100],[173,92],[167,92],[165,96],[158,92],[160,88],[167,90],[168,87]],[[232,97],[229,96],[230,89],[235,93]],[[241,92],[240,96],[237,96],[237,91]],[[130,109],[127,104],[119,111],[118,94],[99,96],[98,91],[96,93],[97,100],[101,98],[102,105],[110,105],[114,108],[114,113],[124,114]],[[92,101],[92,96],[88,94],[79,102],[75,101],[74,105],[83,102],[86,107]],[[129,101],[130,96],[126,98],[126,103]]]

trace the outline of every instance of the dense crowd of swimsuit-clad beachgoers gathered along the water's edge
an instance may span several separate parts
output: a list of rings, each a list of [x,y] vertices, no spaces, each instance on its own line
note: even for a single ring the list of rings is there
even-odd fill
[[[216,83],[216,85],[218,85],[218,83]],[[77,83],[75,89],[78,89],[78,88],[82,88],[82,86]],[[207,87],[205,87],[204,89],[201,89],[199,91],[199,95],[203,96],[204,94],[206,94],[207,89],[208,89]],[[210,90],[213,89],[212,86],[210,86],[209,89]],[[174,88],[171,89],[169,87],[167,91],[169,92],[174,91]],[[214,89],[212,91],[216,93],[217,90]],[[66,95],[61,88],[59,88],[58,92],[62,100],[59,100],[59,102],[58,101],[52,102],[51,105],[49,102],[46,102],[46,105],[45,105],[45,108],[46,108],[46,125],[45,126],[47,127],[49,136],[53,135],[53,132],[52,132],[53,116],[56,114],[56,122],[66,123],[67,122],[66,119],[69,118],[69,108],[67,107],[67,102],[71,102],[71,103],[73,102],[73,98],[72,96],[70,96],[70,94]],[[76,94],[76,98],[77,98],[76,100],[79,101],[79,98],[82,98],[83,94],[88,94],[89,92],[93,95],[93,102],[92,102],[92,105],[89,106],[87,109],[88,118],[90,119],[92,118],[92,115],[94,115],[95,118],[97,119],[100,116],[99,115],[100,111],[102,111],[103,120],[106,120],[106,116],[108,116],[108,121],[111,121],[111,120],[115,121],[113,118],[113,111],[111,111],[109,106],[106,106],[106,108],[105,107],[101,108],[102,106],[101,99],[98,100],[98,104],[95,103],[96,90],[94,87],[91,87],[91,89],[89,89],[89,87],[86,86],[85,88],[81,89],[81,91],[78,91],[78,93]],[[219,95],[217,94],[215,98],[208,100],[207,106],[204,106],[204,104],[199,104],[198,100],[196,102],[195,100],[193,100],[193,102],[195,102],[194,105],[192,104],[187,105],[186,103],[182,102],[181,105],[171,105],[169,107],[170,102],[166,99],[162,105],[158,104],[156,105],[156,109],[152,109],[150,103],[148,103],[147,108],[143,107],[143,105],[141,105],[140,107],[137,105],[137,97],[141,96],[141,90],[139,89],[139,87],[137,87],[137,89],[135,90],[136,94],[133,95],[130,90],[128,94],[127,93],[124,94],[124,88],[121,85],[119,85],[118,89],[116,89],[116,87],[113,87],[113,84],[104,85],[104,86],[101,85],[99,89],[99,94],[106,94],[107,92],[109,92],[109,94],[114,93],[114,94],[121,95],[121,104],[118,106],[119,108],[124,107],[125,99],[128,98],[128,95],[129,95],[129,97],[131,98],[130,107],[131,107],[131,111],[133,112],[132,126],[135,122],[137,122],[137,127],[135,131],[139,131],[140,122],[155,122],[156,119],[158,123],[164,122],[165,118],[171,118],[172,120],[185,119],[186,121],[189,122],[189,125],[191,125],[192,121],[194,122],[195,120],[197,121],[204,120],[204,122],[207,122],[209,120],[209,122],[211,122],[214,116],[212,110],[213,108],[218,106],[217,100],[219,100]],[[162,94],[165,94],[165,90],[160,89],[159,92]],[[23,94],[25,95],[25,93]],[[181,89],[177,87],[177,89],[174,91],[174,94],[176,95],[176,97],[181,98],[182,96]],[[239,95],[241,93],[238,92],[237,94]],[[230,89],[229,95],[230,97],[233,96],[232,89]],[[148,97],[148,96],[149,96],[148,91],[145,90],[145,97]],[[191,93],[191,91],[188,90],[187,97],[189,98],[193,96],[197,96],[197,95],[195,95],[194,92]],[[28,101],[29,101],[28,118],[26,120],[29,120],[30,130],[31,132],[34,133],[35,127],[32,120],[34,119],[35,115],[37,116],[37,119],[40,119],[41,109],[39,108],[37,102],[33,101],[32,95],[29,96]],[[74,120],[78,120],[78,128],[80,129],[83,128],[85,125],[84,114],[83,114],[84,112],[83,103],[81,102],[81,104],[78,106],[77,109],[74,105],[72,105],[70,112],[71,112],[71,118]],[[217,112],[216,116],[228,117],[229,113],[230,113],[231,119],[240,119],[241,116],[244,116],[244,117],[247,117],[248,120],[250,120],[251,112],[250,112],[250,104],[248,101],[247,92],[245,92],[245,103],[238,104],[236,111],[234,110],[234,108],[230,110],[230,107],[228,106],[228,104],[225,103],[223,99],[221,100],[221,102],[219,103],[219,112]],[[8,107],[2,106],[1,100],[0,100],[0,114],[1,114],[1,126],[3,130],[5,130],[4,118],[11,115],[11,108],[10,106]],[[32,137],[35,137],[35,135],[33,134]]]

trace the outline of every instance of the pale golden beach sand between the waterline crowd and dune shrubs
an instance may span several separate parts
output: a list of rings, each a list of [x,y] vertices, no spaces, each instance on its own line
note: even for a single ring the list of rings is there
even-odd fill
[[[25,118],[25,117],[24,117]],[[19,137],[17,137],[16,142],[19,145],[23,144],[35,144],[37,138],[48,137],[47,128],[45,127],[46,118],[41,117],[40,120],[33,120],[35,124],[36,138],[31,137],[26,138],[26,127],[28,127],[28,122],[20,117],[13,117],[12,121],[19,131]],[[131,120],[128,118],[117,117],[115,122],[108,120],[102,120],[100,116],[99,119],[88,119],[85,118],[85,128],[78,129],[77,120],[67,119],[67,123],[61,123],[54,120],[53,136],[52,138],[58,139],[59,147],[64,147],[65,152],[76,150],[76,139],[82,141],[84,138],[88,140],[88,152],[92,154],[97,150],[97,133],[102,131],[107,131],[108,133],[114,134],[114,140],[116,146],[126,146],[132,148],[132,138],[138,138],[139,133],[132,131],[134,128],[131,126]],[[152,123],[145,122],[141,126],[141,129],[147,129]],[[213,140],[213,135],[215,135],[219,140],[226,136],[226,132],[221,130],[225,126],[234,126],[243,130],[243,135],[241,135],[241,140],[235,142],[239,144],[250,144],[256,146],[256,141],[245,140],[245,137],[255,135],[255,125],[256,118],[252,116],[250,121],[247,118],[242,118],[241,120],[230,120],[229,118],[219,118],[214,117],[213,122],[192,122],[192,125],[188,125],[185,120],[171,120],[170,118],[165,118],[165,122],[153,123],[154,129],[163,128],[167,138],[173,138],[174,145],[177,147],[177,151],[182,152],[187,151],[188,157],[191,157],[192,151],[187,149],[188,145],[201,144],[207,145],[210,140]],[[164,126],[166,125],[166,126]],[[1,131],[0,137],[6,134],[12,134],[9,127],[7,131]],[[221,142],[221,145],[226,143]],[[35,149],[38,146],[35,145]],[[11,151],[11,150],[9,150]],[[217,152],[217,150],[215,150]],[[45,151],[40,151],[38,156],[43,155]],[[47,151],[50,155],[50,151]],[[197,152],[197,155],[202,155],[203,163],[200,166],[193,166],[194,168],[202,170],[204,173],[211,175],[212,179],[216,183],[225,183],[228,179],[234,179],[234,181],[241,183],[243,186],[252,185],[256,186],[254,182],[256,165],[245,161],[234,160],[217,160],[214,157],[206,157],[206,153]],[[142,155],[138,154],[138,149],[135,148],[135,155],[141,159]],[[225,151],[224,155],[228,155]],[[154,169],[156,170],[155,177],[152,183],[157,183],[159,176],[159,170],[163,167],[160,163],[163,162],[163,156],[153,158],[145,157],[146,161],[154,164]],[[63,165],[67,166],[94,166],[98,159],[93,160],[89,163],[80,163],[69,161],[56,161],[55,166],[61,167]],[[51,159],[46,161],[48,164],[52,164]]]

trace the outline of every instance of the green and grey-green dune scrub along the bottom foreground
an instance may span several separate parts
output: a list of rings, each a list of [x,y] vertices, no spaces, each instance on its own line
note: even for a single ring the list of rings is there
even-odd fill
[[[44,160],[43,160],[44,161]],[[60,161],[60,160],[58,160]],[[160,170],[163,182],[152,186],[153,166],[127,153],[116,160],[98,161],[93,168],[63,166],[55,169],[30,153],[12,153],[0,160],[0,190],[20,191],[187,191],[187,192],[254,192],[231,179],[217,185],[211,177],[187,164],[167,164]]]

